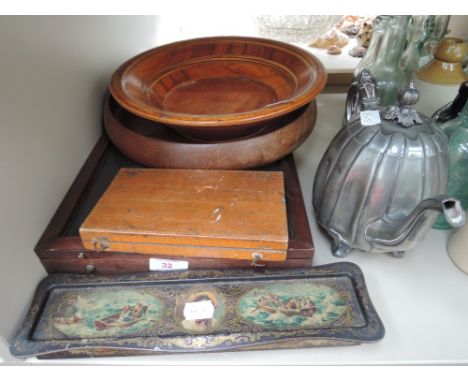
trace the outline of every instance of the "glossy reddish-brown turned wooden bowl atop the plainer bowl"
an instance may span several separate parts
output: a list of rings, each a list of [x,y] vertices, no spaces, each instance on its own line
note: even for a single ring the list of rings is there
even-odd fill
[[[209,37],[130,59],[113,74],[110,91],[126,110],[185,136],[227,140],[310,103],[326,79],[321,62],[293,45]]]

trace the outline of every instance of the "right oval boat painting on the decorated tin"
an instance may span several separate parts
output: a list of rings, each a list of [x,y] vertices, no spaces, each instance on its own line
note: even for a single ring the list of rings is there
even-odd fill
[[[334,289],[316,283],[281,283],[255,288],[239,301],[241,316],[271,329],[330,326],[346,312]]]

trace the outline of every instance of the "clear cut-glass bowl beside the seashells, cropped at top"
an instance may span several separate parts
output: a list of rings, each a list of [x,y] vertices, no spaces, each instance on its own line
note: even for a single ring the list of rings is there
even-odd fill
[[[262,15],[256,17],[260,36],[312,44],[340,22],[341,15]]]

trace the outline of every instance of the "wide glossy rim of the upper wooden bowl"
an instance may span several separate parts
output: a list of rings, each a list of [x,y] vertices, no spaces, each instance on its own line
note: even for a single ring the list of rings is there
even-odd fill
[[[232,40],[240,42],[251,42],[256,44],[270,45],[277,49],[287,51],[298,57],[310,70],[316,72],[316,80],[310,80],[305,89],[300,93],[294,94],[290,99],[279,101],[263,108],[229,114],[185,114],[166,111],[160,108],[151,107],[143,102],[139,102],[127,97],[126,91],[122,86],[123,79],[128,70],[134,65],[146,60],[155,53],[170,50],[172,48],[180,48],[190,46],[192,44],[213,43],[217,41]],[[217,126],[236,126],[257,124],[271,120],[273,118],[290,113],[298,108],[311,102],[325,87],[327,82],[327,72],[322,62],[312,53],[302,49],[301,47],[284,43],[281,41],[270,40],[258,37],[245,36],[214,36],[194,38],[183,41],[176,41],[169,44],[161,45],[156,48],[142,52],[135,57],[124,62],[112,75],[110,83],[110,93],[117,103],[129,112],[140,117],[160,122],[163,124],[190,126],[190,127],[217,127]]]

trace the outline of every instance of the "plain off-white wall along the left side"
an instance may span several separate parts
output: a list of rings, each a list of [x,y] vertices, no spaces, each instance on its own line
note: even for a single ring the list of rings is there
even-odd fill
[[[33,252],[101,134],[110,75],[157,18],[0,17],[0,361],[45,276]]]

